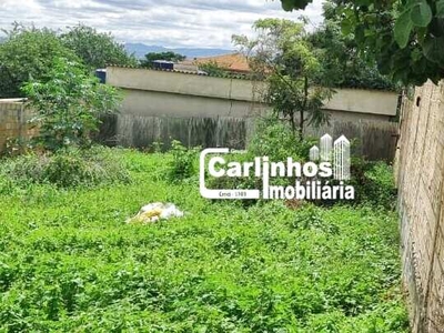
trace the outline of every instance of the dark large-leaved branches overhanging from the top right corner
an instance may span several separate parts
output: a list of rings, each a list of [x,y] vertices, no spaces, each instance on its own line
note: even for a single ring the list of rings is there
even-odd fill
[[[284,10],[312,0],[281,0]],[[342,32],[381,73],[404,84],[444,78],[444,0],[334,0]]]

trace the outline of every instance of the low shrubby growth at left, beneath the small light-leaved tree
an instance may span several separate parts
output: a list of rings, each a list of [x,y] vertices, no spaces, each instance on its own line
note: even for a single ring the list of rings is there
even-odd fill
[[[93,148],[89,151],[70,149],[6,159],[0,164],[0,179],[3,179],[3,188],[10,182],[21,188],[32,183],[71,188],[127,183],[130,175],[113,150]],[[4,179],[10,182],[4,182]]]

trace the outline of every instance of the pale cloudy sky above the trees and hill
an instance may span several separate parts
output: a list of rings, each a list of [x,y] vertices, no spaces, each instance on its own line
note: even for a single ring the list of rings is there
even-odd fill
[[[0,28],[13,21],[52,29],[84,23],[121,42],[232,49],[231,36],[251,36],[252,23],[261,18],[304,14],[319,24],[322,2],[287,13],[279,0],[0,0]]]

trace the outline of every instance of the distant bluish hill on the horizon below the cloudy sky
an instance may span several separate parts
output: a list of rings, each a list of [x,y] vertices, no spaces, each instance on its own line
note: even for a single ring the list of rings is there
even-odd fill
[[[226,49],[203,49],[203,48],[164,48],[159,46],[147,46],[142,43],[127,43],[125,49],[130,53],[134,53],[137,58],[143,58],[150,52],[167,52],[173,51],[186,56],[188,58],[214,57],[234,52]]]

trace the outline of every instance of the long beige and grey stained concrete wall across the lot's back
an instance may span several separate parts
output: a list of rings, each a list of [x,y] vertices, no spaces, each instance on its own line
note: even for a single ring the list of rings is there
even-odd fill
[[[148,147],[161,140],[168,145],[173,138],[188,145],[241,149],[254,119],[271,111],[259,102],[263,82],[115,67],[107,71],[107,82],[124,93],[115,121],[118,144]],[[305,133],[345,134],[361,142],[362,155],[391,160],[397,127],[390,118],[396,105],[393,92],[340,89],[325,105],[330,124]]]

